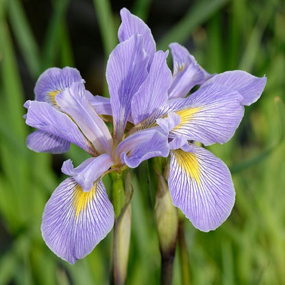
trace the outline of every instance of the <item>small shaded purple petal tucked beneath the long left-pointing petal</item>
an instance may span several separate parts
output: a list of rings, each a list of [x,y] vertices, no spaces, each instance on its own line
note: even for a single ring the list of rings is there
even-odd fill
[[[69,150],[70,145],[69,141],[40,129],[27,136],[27,147],[36,152],[64,153]]]

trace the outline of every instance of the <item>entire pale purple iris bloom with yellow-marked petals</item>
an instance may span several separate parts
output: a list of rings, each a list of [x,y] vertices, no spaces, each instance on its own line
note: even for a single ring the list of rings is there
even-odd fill
[[[27,101],[26,123],[36,128],[27,146],[38,152],[64,153],[70,143],[90,158],[55,189],[42,216],[42,237],[60,258],[84,258],[114,224],[114,208],[103,175],[135,168],[149,158],[171,156],[169,191],[173,205],[195,227],[219,227],[234,206],[235,191],[227,166],[195,145],[225,143],[243,118],[244,106],[256,101],[266,77],[245,71],[210,75],[193,55],[172,43],[156,51],[151,30],[127,9],[121,10],[119,45],[108,59],[110,99],[93,96],[79,71],[51,68],[40,75],[35,101]],[[194,86],[199,86],[191,92]],[[103,121],[112,116],[112,133]],[[131,126],[131,127],[129,127]]]

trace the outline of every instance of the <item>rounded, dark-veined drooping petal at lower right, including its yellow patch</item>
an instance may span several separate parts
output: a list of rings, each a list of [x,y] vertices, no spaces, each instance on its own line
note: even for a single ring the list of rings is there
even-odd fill
[[[227,166],[210,151],[171,151],[169,191],[197,229],[208,232],[219,227],[234,206],[235,191]]]

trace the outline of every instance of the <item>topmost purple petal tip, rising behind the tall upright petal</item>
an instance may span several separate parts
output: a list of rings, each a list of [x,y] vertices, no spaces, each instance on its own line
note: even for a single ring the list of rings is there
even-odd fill
[[[143,36],[143,48],[152,59],[156,52],[156,42],[153,40],[151,29],[138,16],[131,14],[129,10],[123,8],[120,12],[122,23],[119,27],[118,37],[120,42],[124,42],[135,34]]]

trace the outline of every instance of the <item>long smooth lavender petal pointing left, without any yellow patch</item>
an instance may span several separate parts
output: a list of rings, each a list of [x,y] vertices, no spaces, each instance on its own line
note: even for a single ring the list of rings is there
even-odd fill
[[[95,153],[92,145],[66,114],[46,102],[27,101],[24,106],[27,108],[27,125],[68,140],[92,155]]]

